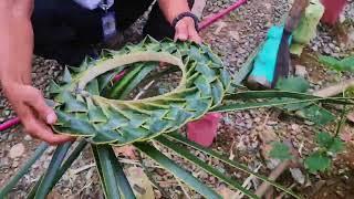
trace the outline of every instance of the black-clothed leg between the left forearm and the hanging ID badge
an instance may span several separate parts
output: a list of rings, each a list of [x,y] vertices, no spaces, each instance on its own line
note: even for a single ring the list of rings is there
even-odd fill
[[[71,14],[70,14],[71,13]],[[77,15],[85,17],[92,25],[96,25],[94,12],[80,8],[73,1],[60,0],[35,0],[32,14],[34,32],[34,54],[45,59],[53,59],[61,64],[79,65],[86,55],[95,56],[95,52],[90,44],[96,42],[100,32],[94,32],[97,28],[74,27],[74,22],[80,23]],[[82,23],[87,23],[82,19]],[[86,31],[85,36],[80,35],[80,31]]]

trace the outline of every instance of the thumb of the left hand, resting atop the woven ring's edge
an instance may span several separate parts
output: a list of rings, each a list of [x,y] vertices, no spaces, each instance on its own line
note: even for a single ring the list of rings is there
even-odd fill
[[[31,106],[35,111],[35,113],[38,113],[38,115],[48,124],[54,124],[58,119],[55,112],[45,104],[42,93],[39,90],[31,86],[29,86],[29,88],[25,92],[27,105]]]

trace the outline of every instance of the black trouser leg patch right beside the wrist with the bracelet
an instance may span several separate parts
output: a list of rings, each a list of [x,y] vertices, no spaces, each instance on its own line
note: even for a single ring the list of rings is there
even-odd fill
[[[189,8],[192,7],[194,0],[188,0]],[[165,19],[163,11],[159,9],[158,3],[154,6],[149,13],[146,25],[144,27],[144,34],[150,35],[156,40],[163,40],[164,38],[174,39],[175,29]]]

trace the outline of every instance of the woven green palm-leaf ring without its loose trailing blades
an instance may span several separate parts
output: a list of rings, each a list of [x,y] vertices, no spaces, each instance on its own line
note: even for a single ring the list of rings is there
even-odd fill
[[[167,62],[179,66],[177,88],[164,95],[136,101],[101,96],[107,74],[122,66]],[[93,144],[123,146],[174,132],[219,105],[230,85],[221,60],[205,44],[158,42],[147,36],[139,44],[105,51],[100,60],[65,69],[63,81],[51,84],[59,134],[84,137]]]

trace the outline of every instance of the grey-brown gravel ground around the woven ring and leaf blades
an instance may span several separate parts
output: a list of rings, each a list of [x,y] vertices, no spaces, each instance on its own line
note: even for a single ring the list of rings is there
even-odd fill
[[[232,0],[209,0],[207,1],[204,15],[217,12],[219,9],[226,8],[232,2]],[[229,71],[236,73],[251,52],[262,42],[268,28],[273,23],[278,23],[289,8],[288,0],[249,0],[247,4],[232,12],[229,17],[201,32],[201,35],[204,40],[219,53]],[[345,10],[345,17],[347,19],[354,19],[353,1],[350,1]],[[136,23],[137,25],[134,25],[129,31],[125,32],[125,38],[129,41],[137,40],[139,38],[138,33],[140,32],[139,24],[142,23],[144,23],[144,20],[139,20]],[[347,54],[348,51],[344,51],[344,48],[341,46],[341,43],[337,42],[332,34],[333,30],[331,28],[321,25],[317,36],[312,41],[306,52],[322,53],[336,57]],[[323,67],[306,66],[310,76],[309,80],[313,83],[314,88],[321,88],[326,85],[327,82],[339,81],[335,78],[335,74]],[[32,72],[34,85],[45,93],[48,83],[50,80],[59,77],[61,70],[62,66],[55,61],[34,57]],[[346,74],[346,76],[350,75]],[[12,116],[11,107],[0,93],[0,122]],[[351,132],[351,134],[354,133],[350,127],[348,132]],[[0,134],[0,187],[4,185],[7,179],[15,174],[15,170],[20,168],[39,144],[38,140],[24,136],[21,127],[11,129],[11,133],[12,134]],[[313,147],[314,128],[311,123],[294,119],[289,115],[279,114],[277,111],[258,109],[225,114],[220,125],[219,136],[212,148],[229,154],[231,159],[243,163],[251,169],[261,165],[260,171],[267,174],[269,172],[269,168],[262,161],[262,154],[260,153],[262,144],[259,136],[261,134],[275,135],[280,139],[291,140],[296,149],[303,148],[304,155],[311,151]],[[160,149],[167,151],[163,147],[160,147]],[[20,181],[11,198],[23,198],[25,196],[30,185],[38,180],[40,174],[48,167],[53,150],[54,148],[52,147],[33,166],[31,172]],[[222,184],[214,177],[196,169],[192,165],[171,155],[171,153],[167,151],[167,154],[211,187],[222,187]],[[221,163],[212,160],[202,154],[196,155],[201,159],[210,161],[220,171],[240,181],[243,181],[244,178],[248,177],[244,174],[229,169]],[[163,192],[156,190],[155,193],[157,198],[184,198],[184,189],[170,174],[157,168],[152,160],[144,159],[144,163],[148,166],[149,171],[157,174],[153,175],[153,178],[163,188]],[[95,167],[88,167],[82,170],[85,166],[92,164],[91,151],[85,150],[55,187],[53,195],[56,197],[61,196],[58,198],[102,198]],[[306,179],[305,185],[316,185],[320,178],[320,176],[316,176],[316,179]],[[288,181],[284,180],[284,185],[289,182],[289,178],[287,179]],[[257,185],[257,181],[254,185]],[[305,185],[298,185],[299,189],[302,190],[301,188],[306,187]],[[190,195],[192,198],[199,198],[199,196],[194,192],[190,192]]]

